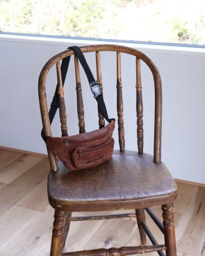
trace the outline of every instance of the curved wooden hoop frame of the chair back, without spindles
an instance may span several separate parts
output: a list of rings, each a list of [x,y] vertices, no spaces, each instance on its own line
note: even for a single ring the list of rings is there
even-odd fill
[[[88,45],[80,47],[83,53],[85,52],[97,52],[97,51],[115,51],[124,54],[130,54],[136,56],[136,58],[142,60],[149,69],[154,78],[154,91],[155,91],[155,122],[154,122],[154,162],[160,163],[161,162],[161,124],[162,124],[162,88],[161,88],[161,76],[158,72],[158,69],[151,61],[151,59],[143,54],[141,51],[137,49],[133,49],[130,47],[124,47],[120,45]],[[40,77],[38,81],[38,91],[39,91],[39,99],[40,99],[40,111],[42,115],[42,125],[44,128],[44,132],[46,136],[51,135],[51,125],[49,122],[49,110],[47,104],[47,97],[46,97],[46,79],[49,70],[53,67],[56,63],[61,61],[63,58],[68,56],[74,55],[74,51],[71,49],[67,49],[65,51],[56,54],[55,56],[51,57],[49,61],[44,65],[42,71],[40,72]],[[49,161],[51,163],[51,169],[57,170],[56,167],[56,157],[52,152],[48,152],[49,154]]]

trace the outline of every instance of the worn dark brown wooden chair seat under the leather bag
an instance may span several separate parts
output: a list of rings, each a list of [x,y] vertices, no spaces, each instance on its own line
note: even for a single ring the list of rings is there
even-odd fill
[[[177,197],[169,171],[149,154],[114,150],[110,161],[95,168],[69,171],[60,161],[58,168],[49,173],[49,202],[66,211],[135,209]]]

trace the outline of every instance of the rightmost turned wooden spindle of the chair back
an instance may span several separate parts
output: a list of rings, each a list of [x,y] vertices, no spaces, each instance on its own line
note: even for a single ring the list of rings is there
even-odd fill
[[[142,83],[140,75],[140,59],[136,58],[136,93],[137,93],[137,136],[138,153],[143,154],[144,131],[143,131],[143,102],[142,102]]]

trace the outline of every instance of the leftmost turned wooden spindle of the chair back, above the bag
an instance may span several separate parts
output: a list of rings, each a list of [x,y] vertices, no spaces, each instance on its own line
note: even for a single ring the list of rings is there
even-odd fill
[[[61,76],[60,62],[56,63],[57,79],[58,79],[58,97],[59,97],[59,113],[62,136],[67,135],[67,114],[65,109],[64,90]]]

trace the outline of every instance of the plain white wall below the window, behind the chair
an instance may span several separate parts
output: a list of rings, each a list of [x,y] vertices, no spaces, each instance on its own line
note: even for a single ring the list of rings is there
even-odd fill
[[[0,35],[0,145],[46,152],[40,138],[40,70],[67,46],[85,43],[96,42]],[[163,161],[175,178],[205,184],[205,49],[129,46],[145,52],[161,72]]]

